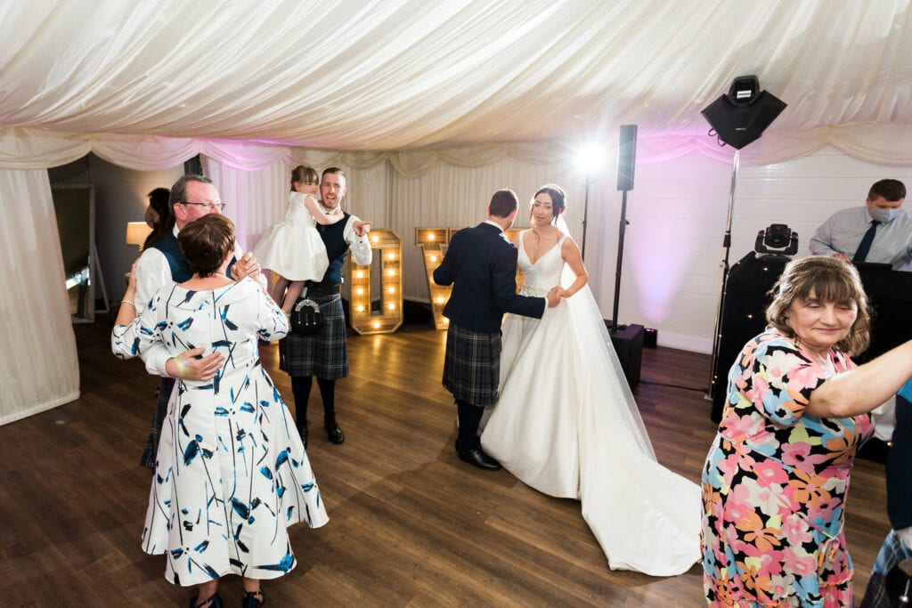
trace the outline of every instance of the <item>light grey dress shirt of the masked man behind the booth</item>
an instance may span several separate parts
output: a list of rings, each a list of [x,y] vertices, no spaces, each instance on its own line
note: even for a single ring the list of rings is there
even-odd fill
[[[814,232],[811,252],[817,255],[845,253],[851,259],[872,221],[867,207],[836,211]],[[912,218],[903,213],[891,222],[881,223],[865,262],[888,263],[893,270],[912,271]]]

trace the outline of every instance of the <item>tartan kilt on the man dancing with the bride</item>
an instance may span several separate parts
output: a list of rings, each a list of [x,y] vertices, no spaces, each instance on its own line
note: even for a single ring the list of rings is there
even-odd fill
[[[500,372],[500,332],[472,332],[452,324],[447,328],[443,387],[454,399],[473,406],[496,403]]]

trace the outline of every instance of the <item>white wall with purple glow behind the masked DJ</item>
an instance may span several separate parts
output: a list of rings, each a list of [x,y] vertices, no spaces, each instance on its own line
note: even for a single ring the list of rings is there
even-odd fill
[[[741,163],[731,222],[730,264],[752,252],[757,232],[772,223],[799,234],[799,256],[834,211],[864,204],[876,180],[912,185],[912,170],[855,160],[835,149],[768,166]],[[658,329],[658,342],[709,353],[721,277],[722,240],[731,190],[731,164],[700,155],[637,165],[627,201],[624,266],[618,320]],[[605,193],[600,252],[603,313],[611,314],[617,254],[619,192]],[[592,266],[593,263],[587,263]]]

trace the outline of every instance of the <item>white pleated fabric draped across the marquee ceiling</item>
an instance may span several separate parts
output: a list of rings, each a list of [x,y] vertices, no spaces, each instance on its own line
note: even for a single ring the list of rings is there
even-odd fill
[[[0,161],[41,137],[14,128],[399,150],[632,123],[711,153],[700,109],[746,74],[789,104],[746,157],[877,155],[870,129],[912,124],[910,20],[908,0],[11,0]]]

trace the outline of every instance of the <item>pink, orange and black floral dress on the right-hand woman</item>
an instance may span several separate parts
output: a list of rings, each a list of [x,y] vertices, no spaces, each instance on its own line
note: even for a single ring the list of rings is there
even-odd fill
[[[830,354],[836,373],[854,366]],[[731,367],[703,469],[703,582],[710,606],[850,606],[843,521],[867,414],[804,414],[832,372],[773,330]]]

